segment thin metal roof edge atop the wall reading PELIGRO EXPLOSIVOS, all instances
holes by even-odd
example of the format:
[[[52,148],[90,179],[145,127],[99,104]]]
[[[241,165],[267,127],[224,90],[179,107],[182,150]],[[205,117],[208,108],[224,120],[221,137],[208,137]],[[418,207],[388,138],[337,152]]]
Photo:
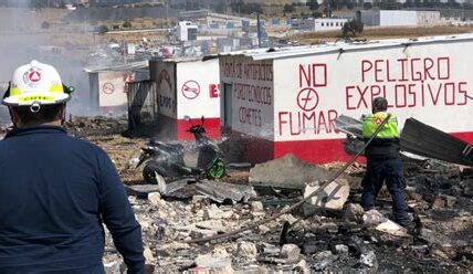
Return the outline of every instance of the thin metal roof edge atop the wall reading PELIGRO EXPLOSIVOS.
[[[324,53],[344,53],[349,51],[383,49],[392,46],[409,46],[416,44],[429,43],[445,43],[445,42],[462,42],[473,40],[473,33],[455,34],[448,36],[430,36],[419,39],[391,39],[368,42],[335,42],[320,45],[306,45],[306,46],[291,46],[291,48],[275,48],[275,49],[256,49],[246,51],[235,51],[229,53],[220,53],[214,56],[246,56],[255,61],[259,60],[277,60],[294,56],[315,55]],[[209,59],[209,57],[207,57]]]

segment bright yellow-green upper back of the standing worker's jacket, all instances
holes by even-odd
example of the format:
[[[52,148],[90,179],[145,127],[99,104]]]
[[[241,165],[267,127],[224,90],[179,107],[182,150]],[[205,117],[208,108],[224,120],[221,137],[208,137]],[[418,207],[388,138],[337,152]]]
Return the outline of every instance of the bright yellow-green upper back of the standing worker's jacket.
[[[362,119],[362,137],[371,137],[387,116],[387,113],[381,112],[365,116]],[[391,118],[385,124],[377,138],[399,138],[398,119],[395,116],[391,115]]]

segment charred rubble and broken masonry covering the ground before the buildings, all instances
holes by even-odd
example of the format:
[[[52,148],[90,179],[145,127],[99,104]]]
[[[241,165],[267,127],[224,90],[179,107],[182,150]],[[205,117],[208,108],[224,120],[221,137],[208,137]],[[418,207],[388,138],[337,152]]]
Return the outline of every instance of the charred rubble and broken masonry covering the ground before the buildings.
[[[124,171],[127,166],[119,161],[126,161],[127,157],[116,156],[117,152],[132,155],[129,150],[136,146],[117,148],[117,140],[120,140],[118,144],[135,141],[114,137],[113,145],[108,141],[98,145],[112,152],[120,173],[136,173],[135,180],[125,183],[143,185],[139,170]],[[284,162],[296,166],[292,167],[296,170],[308,167],[288,156],[264,164],[264,169],[259,166],[251,171],[229,170],[229,177],[223,179],[225,189],[233,189],[232,185],[253,188],[252,194],[242,200],[218,202],[210,192],[198,192],[198,183],[185,183],[176,191],[187,192],[183,197],[160,194],[156,187],[139,186],[148,190],[130,196],[129,200],[143,228],[147,262],[155,267],[155,273],[466,273],[473,267],[473,172],[433,161],[406,164],[408,202],[417,223],[414,231],[389,220],[391,205],[387,190],[381,191],[376,210],[364,212],[359,205],[364,166],[356,165],[335,181],[335,196],[330,194],[332,186],[318,200],[275,221],[221,240],[189,243],[272,217],[302,200],[307,194],[304,190],[311,191],[306,188],[316,188],[339,166],[314,167],[320,171],[309,177],[299,176],[302,181],[309,180],[302,185],[294,181],[296,177],[284,172],[277,173],[274,186],[271,180],[261,179],[264,172],[265,178],[274,177],[274,169],[283,168]],[[292,180],[291,186],[281,185],[286,179]],[[329,202],[337,205],[324,205]],[[311,210],[307,211],[307,207]],[[104,259],[107,273],[119,273],[124,265],[109,239],[107,243]]]

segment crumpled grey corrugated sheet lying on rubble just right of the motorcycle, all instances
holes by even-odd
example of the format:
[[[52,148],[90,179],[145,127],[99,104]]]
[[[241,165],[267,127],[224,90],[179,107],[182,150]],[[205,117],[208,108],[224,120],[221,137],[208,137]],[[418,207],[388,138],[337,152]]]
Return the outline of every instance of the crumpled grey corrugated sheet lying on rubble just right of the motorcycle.
[[[244,185],[203,180],[201,183],[196,183],[196,191],[216,202],[223,203],[231,200],[232,203],[236,203],[248,201],[253,188]]]

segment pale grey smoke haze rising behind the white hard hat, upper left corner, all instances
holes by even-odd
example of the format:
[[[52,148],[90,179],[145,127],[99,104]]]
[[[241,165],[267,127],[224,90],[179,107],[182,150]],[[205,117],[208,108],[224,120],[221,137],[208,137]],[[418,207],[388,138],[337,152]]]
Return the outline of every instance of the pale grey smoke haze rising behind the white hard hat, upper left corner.
[[[44,28],[43,23],[57,22],[59,9],[35,9],[36,0],[8,0],[8,8],[0,7],[0,93],[3,95],[6,84],[11,81],[13,71],[23,64],[38,60],[56,67],[62,81],[76,89],[76,96],[88,98],[88,77],[83,72],[83,64],[74,46],[57,46],[60,36],[69,41],[69,33],[54,33],[54,29]],[[60,22],[61,23],[61,22]],[[57,24],[60,24],[57,23]],[[74,44],[74,41],[70,41]],[[86,110],[76,102],[69,105],[69,112],[84,115]],[[0,107],[0,124],[10,119],[4,106]]]

